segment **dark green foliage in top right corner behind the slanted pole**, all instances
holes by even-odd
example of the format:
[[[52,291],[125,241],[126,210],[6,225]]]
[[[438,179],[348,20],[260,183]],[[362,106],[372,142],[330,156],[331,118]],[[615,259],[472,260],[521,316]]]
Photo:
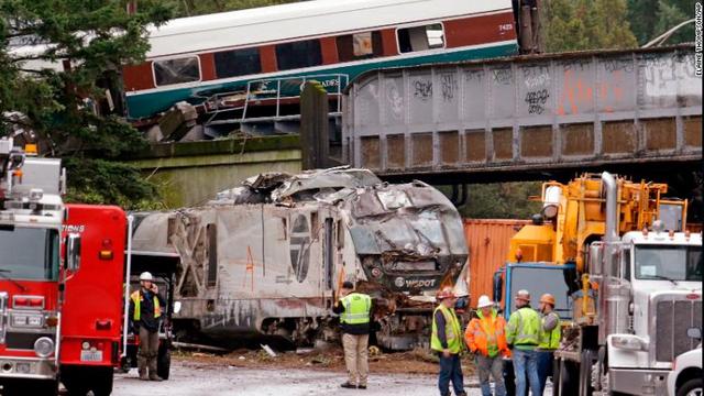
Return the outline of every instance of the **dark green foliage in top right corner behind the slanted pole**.
[[[694,15],[692,0],[628,0],[628,19],[638,43],[644,45]],[[694,25],[680,29],[667,44],[694,41]]]

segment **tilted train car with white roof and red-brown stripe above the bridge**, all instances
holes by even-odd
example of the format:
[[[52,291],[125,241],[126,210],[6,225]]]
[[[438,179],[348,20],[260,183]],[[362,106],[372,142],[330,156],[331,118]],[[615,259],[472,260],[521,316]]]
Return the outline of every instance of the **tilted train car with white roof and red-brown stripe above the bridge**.
[[[123,68],[127,114],[261,105],[248,100],[295,97],[306,79],[334,94],[370,69],[515,55],[516,15],[512,0],[314,0],[176,19]]]

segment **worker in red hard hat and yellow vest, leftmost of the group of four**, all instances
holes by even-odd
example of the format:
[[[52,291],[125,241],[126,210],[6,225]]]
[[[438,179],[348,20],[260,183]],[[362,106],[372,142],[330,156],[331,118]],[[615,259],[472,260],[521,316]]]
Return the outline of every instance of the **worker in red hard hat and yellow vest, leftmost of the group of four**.
[[[450,382],[457,396],[466,396],[460,353],[463,350],[462,327],[454,312],[457,298],[452,287],[444,287],[438,293],[440,304],[432,314],[432,333],[430,348],[440,358],[438,387],[440,396],[450,395]]]

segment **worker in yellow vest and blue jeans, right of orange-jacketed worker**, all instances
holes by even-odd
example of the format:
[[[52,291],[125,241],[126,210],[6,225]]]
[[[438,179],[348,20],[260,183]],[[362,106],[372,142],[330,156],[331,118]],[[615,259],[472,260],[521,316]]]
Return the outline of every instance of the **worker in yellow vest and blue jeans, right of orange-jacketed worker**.
[[[540,343],[540,315],[530,308],[530,293],[521,289],[516,293],[516,310],[506,324],[506,342],[512,348],[512,361],[516,375],[516,395],[527,395],[527,382],[530,392],[540,395],[538,378],[538,352]]]

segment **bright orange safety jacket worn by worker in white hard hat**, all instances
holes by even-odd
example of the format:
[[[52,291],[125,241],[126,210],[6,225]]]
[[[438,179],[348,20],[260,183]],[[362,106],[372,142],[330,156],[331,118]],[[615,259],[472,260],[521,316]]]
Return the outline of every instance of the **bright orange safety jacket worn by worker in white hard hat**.
[[[504,317],[497,315],[496,310],[492,310],[488,318],[484,318],[480,310],[476,314],[479,318],[473,318],[464,332],[464,341],[470,351],[479,351],[482,355],[488,356],[490,345],[494,345],[497,354],[510,355],[504,332],[506,327]]]

